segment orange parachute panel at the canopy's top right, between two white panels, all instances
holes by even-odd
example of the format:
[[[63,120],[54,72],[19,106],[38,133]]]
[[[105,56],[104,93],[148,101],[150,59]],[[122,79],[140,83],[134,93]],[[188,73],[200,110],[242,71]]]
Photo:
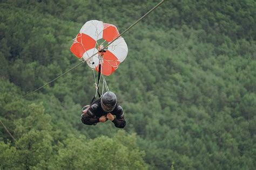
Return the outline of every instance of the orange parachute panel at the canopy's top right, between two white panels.
[[[110,42],[118,36],[119,32],[116,26],[104,23],[103,39],[105,39],[107,42]]]

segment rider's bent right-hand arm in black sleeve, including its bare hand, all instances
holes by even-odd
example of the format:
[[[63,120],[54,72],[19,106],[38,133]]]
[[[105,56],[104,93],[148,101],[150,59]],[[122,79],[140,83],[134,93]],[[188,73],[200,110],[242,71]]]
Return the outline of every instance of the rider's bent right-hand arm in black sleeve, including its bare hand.
[[[116,126],[117,128],[124,128],[124,126],[126,125],[126,121],[124,119],[123,108],[118,106],[117,109],[118,114],[116,115],[116,118],[110,113],[107,114],[107,118],[110,119],[110,121],[112,121],[114,123],[114,126]]]

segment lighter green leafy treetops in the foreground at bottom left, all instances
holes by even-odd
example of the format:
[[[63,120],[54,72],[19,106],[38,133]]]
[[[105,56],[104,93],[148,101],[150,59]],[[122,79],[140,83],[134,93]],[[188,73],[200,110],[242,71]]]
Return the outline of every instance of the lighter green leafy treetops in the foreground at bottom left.
[[[30,104],[28,116],[15,123],[17,142],[0,143],[1,168],[146,169],[135,134],[119,131],[113,138],[86,139],[69,133],[58,141],[42,104]]]

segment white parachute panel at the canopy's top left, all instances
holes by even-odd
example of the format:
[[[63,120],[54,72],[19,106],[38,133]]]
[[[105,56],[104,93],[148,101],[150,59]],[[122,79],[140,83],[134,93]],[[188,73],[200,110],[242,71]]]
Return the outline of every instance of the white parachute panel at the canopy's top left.
[[[87,34],[91,38],[95,39],[96,41],[102,39],[103,37],[103,22],[99,20],[89,20],[86,22],[80,33]]]

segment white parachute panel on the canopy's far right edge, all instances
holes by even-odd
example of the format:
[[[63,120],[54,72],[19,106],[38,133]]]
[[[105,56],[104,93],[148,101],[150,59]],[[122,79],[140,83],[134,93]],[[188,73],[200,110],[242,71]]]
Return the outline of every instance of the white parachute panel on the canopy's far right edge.
[[[109,47],[107,47],[107,50],[113,53],[120,62],[123,62],[128,54],[128,47],[123,38],[118,38]]]

